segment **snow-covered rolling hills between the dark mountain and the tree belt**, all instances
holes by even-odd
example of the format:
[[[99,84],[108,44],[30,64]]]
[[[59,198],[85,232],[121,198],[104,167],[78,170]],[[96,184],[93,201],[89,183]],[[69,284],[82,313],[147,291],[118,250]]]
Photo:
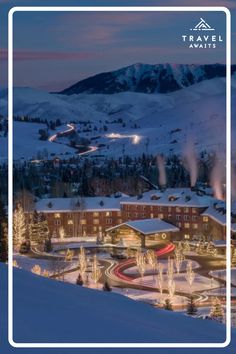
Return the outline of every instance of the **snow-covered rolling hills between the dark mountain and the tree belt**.
[[[181,152],[190,137],[198,150],[222,151],[225,146],[225,79],[203,81],[169,94],[123,92],[113,95],[52,95],[30,88],[14,91],[14,114],[90,121],[91,131],[81,136],[104,144],[92,154],[122,156],[148,153]],[[232,77],[232,105],[236,99],[236,76]],[[0,94],[0,108],[6,114],[7,95]],[[234,108],[234,107],[233,107]],[[236,107],[235,107],[236,108]],[[118,123],[122,120],[122,123]],[[116,123],[114,122],[116,121]],[[106,125],[107,131],[103,127]],[[39,124],[14,122],[15,158],[32,158],[38,151],[75,152],[64,144],[38,140]],[[96,130],[95,130],[96,127]],[[236,132],[233,124],[233,134]],[[1,138],[0,143],[6,143]],[[5,144],[6,145],[6,144]],[[6,146],[0,157],[6,156]]]

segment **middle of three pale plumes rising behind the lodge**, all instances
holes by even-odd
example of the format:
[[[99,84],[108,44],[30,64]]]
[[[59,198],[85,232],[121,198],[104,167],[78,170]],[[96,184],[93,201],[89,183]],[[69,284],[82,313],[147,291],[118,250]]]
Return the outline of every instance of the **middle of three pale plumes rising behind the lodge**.
[[[197,182],[198,162],[192,141],[189,141],[184,148],[183,163],[184,167],[190,174],[191,188],[193,188]]]

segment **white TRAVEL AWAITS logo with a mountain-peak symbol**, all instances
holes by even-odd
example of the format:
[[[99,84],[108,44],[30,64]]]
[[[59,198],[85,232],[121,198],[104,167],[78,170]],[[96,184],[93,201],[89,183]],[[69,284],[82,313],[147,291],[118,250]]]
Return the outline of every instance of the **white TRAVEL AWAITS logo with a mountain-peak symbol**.
[[[215,28],[211,27],[202,17],[200,22],[189,31],[191,32],[181,36],[182,42],[189,49],[215,49],[223,42],[222,35],[208,32],[215,31]]]

